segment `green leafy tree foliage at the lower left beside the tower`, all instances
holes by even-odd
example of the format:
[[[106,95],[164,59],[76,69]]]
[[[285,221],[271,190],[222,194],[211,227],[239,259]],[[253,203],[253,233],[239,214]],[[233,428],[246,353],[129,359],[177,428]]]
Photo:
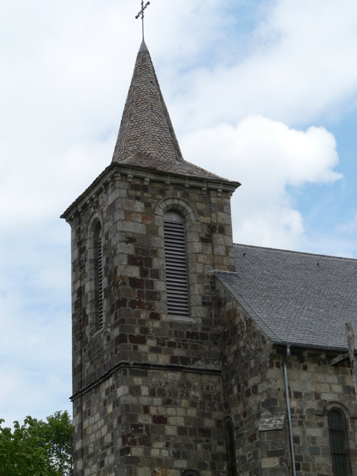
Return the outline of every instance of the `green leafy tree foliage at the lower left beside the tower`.
[[[57,411],[46,422],[26,417],[2,428],[0,419],[1,476],[71,476],[72,421],[67,411]]]

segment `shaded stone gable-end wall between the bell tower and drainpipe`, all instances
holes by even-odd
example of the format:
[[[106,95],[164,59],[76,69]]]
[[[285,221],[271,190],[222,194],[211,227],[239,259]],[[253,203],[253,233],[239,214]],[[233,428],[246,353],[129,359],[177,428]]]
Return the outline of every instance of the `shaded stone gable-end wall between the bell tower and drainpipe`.
[[[286,419],[282,430],[259,431],[262,415],[286,413],[282,370],[279,384],[269,375],[272,343],[220,282],[217,293],[223,405],[234,421],[238,474],[290,475]]]

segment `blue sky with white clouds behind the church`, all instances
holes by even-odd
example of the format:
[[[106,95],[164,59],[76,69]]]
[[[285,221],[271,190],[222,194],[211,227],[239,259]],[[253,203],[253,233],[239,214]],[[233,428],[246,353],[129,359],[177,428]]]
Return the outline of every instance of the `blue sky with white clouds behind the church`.
[[[0,0],[0,418],[71,404],[70,227],[109,165],[139,0]],[[236,243],[357,258],[357,2],[151,0],[186,160],[240,181]]]

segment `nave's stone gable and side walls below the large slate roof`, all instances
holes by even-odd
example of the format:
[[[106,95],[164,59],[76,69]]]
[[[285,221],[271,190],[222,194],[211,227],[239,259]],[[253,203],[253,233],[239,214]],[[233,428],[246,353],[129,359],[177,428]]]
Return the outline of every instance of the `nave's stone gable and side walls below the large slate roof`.
[[[284,347],[276,347],[245,310],[217,284],[223,335],[223,405],[235,422],[240,475],[290,475]],[[287,363],[297,476],[334,475],[328,410],[346,415],[352,474],[357,474],[357,403],[349,360],[331,366],[336,353],[291,349]],[[259,431],[263,420],[284,417],[281,430]]]

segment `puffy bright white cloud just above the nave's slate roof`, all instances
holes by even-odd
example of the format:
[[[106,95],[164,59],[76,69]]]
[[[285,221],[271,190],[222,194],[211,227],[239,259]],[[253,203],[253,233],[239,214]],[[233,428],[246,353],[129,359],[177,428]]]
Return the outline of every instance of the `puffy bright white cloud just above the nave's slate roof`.
[[[294,209],[287,186],[341,177],[334,171],[335,138],[322,127],[304,132],[248,116],[237,127],[223,124],[191,133],[182,147],[188,160],[242,183],[232,197],[238,243],[301,249],[306,245],[303,217]]]

